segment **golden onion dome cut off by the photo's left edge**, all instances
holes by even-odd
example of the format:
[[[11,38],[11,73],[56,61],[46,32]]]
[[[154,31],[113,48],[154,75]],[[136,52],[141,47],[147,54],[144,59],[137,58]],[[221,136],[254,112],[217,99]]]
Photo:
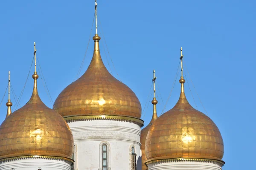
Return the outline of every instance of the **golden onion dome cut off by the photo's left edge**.
[[[73,135],[65,120],[41,101],[38,75],[29,102],[0,126],[0,159],[18,156],[54,156],[71,159]]]

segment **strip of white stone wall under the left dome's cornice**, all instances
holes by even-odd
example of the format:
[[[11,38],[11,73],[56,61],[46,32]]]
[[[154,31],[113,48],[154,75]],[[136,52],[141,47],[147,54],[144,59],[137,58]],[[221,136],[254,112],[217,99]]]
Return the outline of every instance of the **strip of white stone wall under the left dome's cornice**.
[[[71,162],[51,159],[20,159],[0,163],[0,170],[71,170]]]

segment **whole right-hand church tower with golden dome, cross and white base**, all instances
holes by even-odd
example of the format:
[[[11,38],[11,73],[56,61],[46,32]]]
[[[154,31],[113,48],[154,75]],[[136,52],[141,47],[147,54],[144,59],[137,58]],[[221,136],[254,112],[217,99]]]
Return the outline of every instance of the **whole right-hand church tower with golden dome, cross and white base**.
[[[150,127],[145,142],[148,170],[221,170],[224,144],[215,123],[186,99],[181,48],[177,104]]]

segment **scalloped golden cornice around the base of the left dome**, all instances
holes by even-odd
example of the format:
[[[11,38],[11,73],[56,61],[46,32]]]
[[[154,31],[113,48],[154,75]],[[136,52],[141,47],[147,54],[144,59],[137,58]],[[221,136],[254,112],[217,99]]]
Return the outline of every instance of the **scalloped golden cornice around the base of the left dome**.
[[[10,161],[22,160],[22,159],[49,159],[49,160],[56,160],[56,161],[64,161],[70,165],[74,163],[72,159],[64,158],[64,157],[30,155],[30,156],[16,156],[12,158],[0,159],[0,164],[5,162],[10,162]]]

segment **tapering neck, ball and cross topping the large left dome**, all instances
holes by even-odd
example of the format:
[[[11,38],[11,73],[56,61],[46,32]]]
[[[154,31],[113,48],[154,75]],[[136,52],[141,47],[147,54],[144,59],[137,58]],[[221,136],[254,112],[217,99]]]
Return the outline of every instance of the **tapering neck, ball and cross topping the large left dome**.
[[[38,74],[36,72],[36,49],[35,49],[35,42],[34,42],[34,58],[35,58],[35,71],[34,74],[32,75],[32,78],[34,79],[34,88],[33,88],[33,93],[31,98],[29,99],[28,103],[38,103],[41,101],[40,97],[38,96],[38,91],[37,91],[37,79],[38,79]]]

